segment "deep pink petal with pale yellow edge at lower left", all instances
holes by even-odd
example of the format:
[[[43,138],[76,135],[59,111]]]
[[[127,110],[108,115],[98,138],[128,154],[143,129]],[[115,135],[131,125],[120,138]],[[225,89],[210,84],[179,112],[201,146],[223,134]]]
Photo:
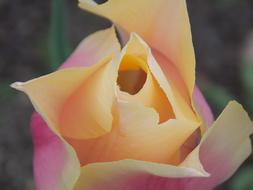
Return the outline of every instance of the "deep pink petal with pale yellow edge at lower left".
[[[80,173],[73,149],[55,135],[39,114],[32,117],[34,178],[37,190],[71,190]]]

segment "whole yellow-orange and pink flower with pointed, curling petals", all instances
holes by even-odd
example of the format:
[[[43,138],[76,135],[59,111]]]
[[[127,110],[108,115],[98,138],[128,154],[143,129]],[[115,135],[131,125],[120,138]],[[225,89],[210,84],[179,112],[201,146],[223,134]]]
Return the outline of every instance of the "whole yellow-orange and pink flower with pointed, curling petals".
[[[235,101],[213,122],[195,86],[185,1],[80,7],[111,19],[126,44],[114,27],[98,31],[60,70],[12,85],[39,113],[37,189],[208,190],[228,179],[251,152],[253,125]]]

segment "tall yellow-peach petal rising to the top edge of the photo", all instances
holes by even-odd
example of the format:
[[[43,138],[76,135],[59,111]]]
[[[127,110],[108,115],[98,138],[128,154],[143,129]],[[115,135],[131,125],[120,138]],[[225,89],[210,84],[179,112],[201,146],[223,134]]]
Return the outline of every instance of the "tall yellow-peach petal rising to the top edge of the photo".
[[[81,8],[140,35],[176,65],[192,94],[195,57],[185,0],[108,0],[100,5],[93,0],[79,2]]]

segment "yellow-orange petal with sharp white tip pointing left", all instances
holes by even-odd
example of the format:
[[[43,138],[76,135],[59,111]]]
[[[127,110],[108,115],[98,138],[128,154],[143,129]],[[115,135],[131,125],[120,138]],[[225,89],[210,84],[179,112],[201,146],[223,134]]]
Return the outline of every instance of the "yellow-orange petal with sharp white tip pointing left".
[[[29,96],[55,133],[94,138],[111,130],[116,75],[105,60],[88,68],[63,69],[12,86]]]

